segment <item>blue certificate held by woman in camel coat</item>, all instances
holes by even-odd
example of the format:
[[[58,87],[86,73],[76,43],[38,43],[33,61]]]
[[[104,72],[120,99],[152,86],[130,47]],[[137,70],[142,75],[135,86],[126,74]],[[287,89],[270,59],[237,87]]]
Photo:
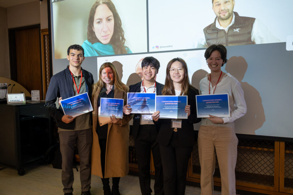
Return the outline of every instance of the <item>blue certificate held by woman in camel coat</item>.
[[[115,115],[116,118],[123,117],[124,99],[101,98],[99,116],[110,117]]]

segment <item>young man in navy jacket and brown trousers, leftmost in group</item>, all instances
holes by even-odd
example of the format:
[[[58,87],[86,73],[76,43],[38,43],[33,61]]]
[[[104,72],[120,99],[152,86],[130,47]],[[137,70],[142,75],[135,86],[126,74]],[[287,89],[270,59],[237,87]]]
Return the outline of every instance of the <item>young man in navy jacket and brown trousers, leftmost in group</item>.
[[[67,99],[78,94],[88,93],[91,97],[93,75],[81,68],[84,61],[84,49],[80,45],[71,45],[67,50],[69,65],[65,70],[52,76],[45,106],[49,114],[56,119],[60,150],[62,154],[62,184],[64,195],[71,195],[74,181],[72,160],[74,145],[76,144],[80,158],[81,194],[91,194],[91,146],[92,146],[92,121],[91,112],[72,117],[64,115],[61,106],[56,108],[57,98]]]

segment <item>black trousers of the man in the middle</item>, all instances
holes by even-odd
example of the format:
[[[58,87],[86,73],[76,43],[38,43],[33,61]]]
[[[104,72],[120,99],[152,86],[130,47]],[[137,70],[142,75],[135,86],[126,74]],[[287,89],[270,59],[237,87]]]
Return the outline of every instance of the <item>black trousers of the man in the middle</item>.
[[[161,155],[159,144],[156,142],[156,137],[157,131],[155,125],[139,125],[134,145],[138,164],[139,184],[142,195],[150,195],[152,192],[150,175],[151,152],[153,154],[155,167],[155,195],[164,194]]]

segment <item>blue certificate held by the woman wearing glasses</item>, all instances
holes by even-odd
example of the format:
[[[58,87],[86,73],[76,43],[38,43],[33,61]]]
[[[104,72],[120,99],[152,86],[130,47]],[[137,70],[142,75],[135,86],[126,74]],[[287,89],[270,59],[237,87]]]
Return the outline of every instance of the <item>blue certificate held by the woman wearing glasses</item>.
[[[160,118],[187,119],[187,96],[156,96],[156,111]]]

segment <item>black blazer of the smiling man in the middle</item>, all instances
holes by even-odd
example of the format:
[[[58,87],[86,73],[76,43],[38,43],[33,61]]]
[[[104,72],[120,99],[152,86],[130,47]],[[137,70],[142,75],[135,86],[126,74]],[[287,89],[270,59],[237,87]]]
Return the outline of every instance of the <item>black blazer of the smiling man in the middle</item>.
[[[136,84],[130,85],[129,86],[129,92],[140,92],[140,86],[142,84],[141,82],[138,82]],[[163,90],[164,85],[161,83],[156,82],[156,95],[161,96],[162,95],[162,90]],[[138,128],[139,128],[139,122],[140,122],[140,114],[134,114],[133,117],[133,124],[132,124],[132,137],[133,139],[136,139],[137,133],[138,133]],[[156,125],[157,126],[157,125]],[[159,131],[159,127],[156,127],[157,132]]]

